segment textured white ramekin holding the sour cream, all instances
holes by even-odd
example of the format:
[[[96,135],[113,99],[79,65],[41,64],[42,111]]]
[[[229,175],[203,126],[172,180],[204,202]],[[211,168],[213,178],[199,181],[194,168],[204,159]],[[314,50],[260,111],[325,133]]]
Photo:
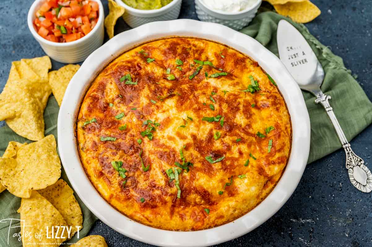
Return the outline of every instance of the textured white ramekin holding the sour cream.
[[[195,9],[199,20],[203,22],[219,23],[231,27],[234,30],[240,30],[251,22],[258,8],[261,6],[261,3],[262,0],[257,0],[257,3],[246,10],[230,13],[212,10],[205,5],[203,0],[195,0]]]

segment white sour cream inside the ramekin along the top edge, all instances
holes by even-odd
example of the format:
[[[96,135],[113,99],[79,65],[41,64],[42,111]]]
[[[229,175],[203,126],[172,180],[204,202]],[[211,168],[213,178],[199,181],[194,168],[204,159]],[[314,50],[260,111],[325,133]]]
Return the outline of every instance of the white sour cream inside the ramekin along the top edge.
[[[239,12],[257,3],[257,0],[201,0],[212,10]]]

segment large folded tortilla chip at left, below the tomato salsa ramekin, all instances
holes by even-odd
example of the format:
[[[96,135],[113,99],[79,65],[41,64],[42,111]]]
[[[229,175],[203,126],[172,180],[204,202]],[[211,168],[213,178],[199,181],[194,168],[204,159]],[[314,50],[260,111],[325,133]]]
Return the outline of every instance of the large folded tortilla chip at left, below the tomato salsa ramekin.
[[[43,112],[52,90],[48,83],[48,56],[12,63],[9,79],[0,94],[0,121],[32,141],[44,138]]]

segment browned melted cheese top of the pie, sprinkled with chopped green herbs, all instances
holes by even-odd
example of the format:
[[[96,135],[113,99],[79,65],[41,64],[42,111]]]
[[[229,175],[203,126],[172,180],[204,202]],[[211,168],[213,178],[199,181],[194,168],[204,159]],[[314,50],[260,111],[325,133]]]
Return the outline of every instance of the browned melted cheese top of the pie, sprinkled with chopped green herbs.
[[[211,77],[222,71],[228,74]],[[128,74],[131,79],[123,78]],[[259,91],[242,91],[250,76]],[[146,129],[151,134],[143,137]],[[291,122],[278,88],[257,62],[207,40],[168,38],[125,52],[97,76],[81,104],[77,142],[92,184],[121,213],[157,228],[201,230],[246,214],[270,193],[290,154]],[[182,148],[185,163],[193,164],[185,164],[189,172],[175,165],[183,164]],[[205,157],[224,158],[211,163]],[[122,162],[121,172],[112,161]],[[180,170],[178,183],[167,174],[171,168]]]

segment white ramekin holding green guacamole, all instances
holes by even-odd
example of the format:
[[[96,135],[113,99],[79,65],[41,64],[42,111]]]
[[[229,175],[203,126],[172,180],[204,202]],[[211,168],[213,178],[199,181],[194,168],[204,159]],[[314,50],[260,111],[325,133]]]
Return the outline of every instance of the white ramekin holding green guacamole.
[[[140,10],[134,9],[122,0],[115,0],[120,6],[125,8],[123,19],[130,27],[138,27],[149,22],[164,20],[175,20],[180,15],[182,0],[173,0],[160,9]]]

